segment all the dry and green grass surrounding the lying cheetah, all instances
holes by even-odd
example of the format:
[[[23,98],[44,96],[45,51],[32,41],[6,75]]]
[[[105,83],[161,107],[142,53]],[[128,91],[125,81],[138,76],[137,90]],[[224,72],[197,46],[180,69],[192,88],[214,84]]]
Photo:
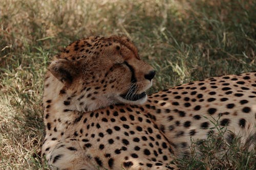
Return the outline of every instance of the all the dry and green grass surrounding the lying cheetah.
[[[152,93],[256,70],[255,9],[252,0],[1,1],[0,169],[47,168],[39,157],[43,77],[61,47],[91,35],[130,37],[157,70]],[[255,169],[255,155],[235,144],[225,157],[231,165],[218,161],[208,154],[215,142],[206,141],[201,158],[177,161],[183,169]]]

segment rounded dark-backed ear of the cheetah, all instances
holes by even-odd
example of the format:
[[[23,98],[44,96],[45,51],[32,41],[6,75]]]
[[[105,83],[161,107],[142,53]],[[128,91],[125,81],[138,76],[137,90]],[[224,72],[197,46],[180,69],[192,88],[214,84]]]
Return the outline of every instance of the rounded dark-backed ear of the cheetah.
[[[64,59],[53,61],[49,66],[49,70],[54,77],[66,85],[70,85],[76,75],[73,62]]]

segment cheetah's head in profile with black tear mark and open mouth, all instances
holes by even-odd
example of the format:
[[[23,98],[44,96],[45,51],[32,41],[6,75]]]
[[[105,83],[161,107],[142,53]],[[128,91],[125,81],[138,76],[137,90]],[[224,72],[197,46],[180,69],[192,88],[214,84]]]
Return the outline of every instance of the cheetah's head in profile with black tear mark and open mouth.
[[[117,103],[142,104],[155,70],[142,61],[126,37],[89,37],[75,41],[49,66],[63,85],[67,104],[89,111]]]

